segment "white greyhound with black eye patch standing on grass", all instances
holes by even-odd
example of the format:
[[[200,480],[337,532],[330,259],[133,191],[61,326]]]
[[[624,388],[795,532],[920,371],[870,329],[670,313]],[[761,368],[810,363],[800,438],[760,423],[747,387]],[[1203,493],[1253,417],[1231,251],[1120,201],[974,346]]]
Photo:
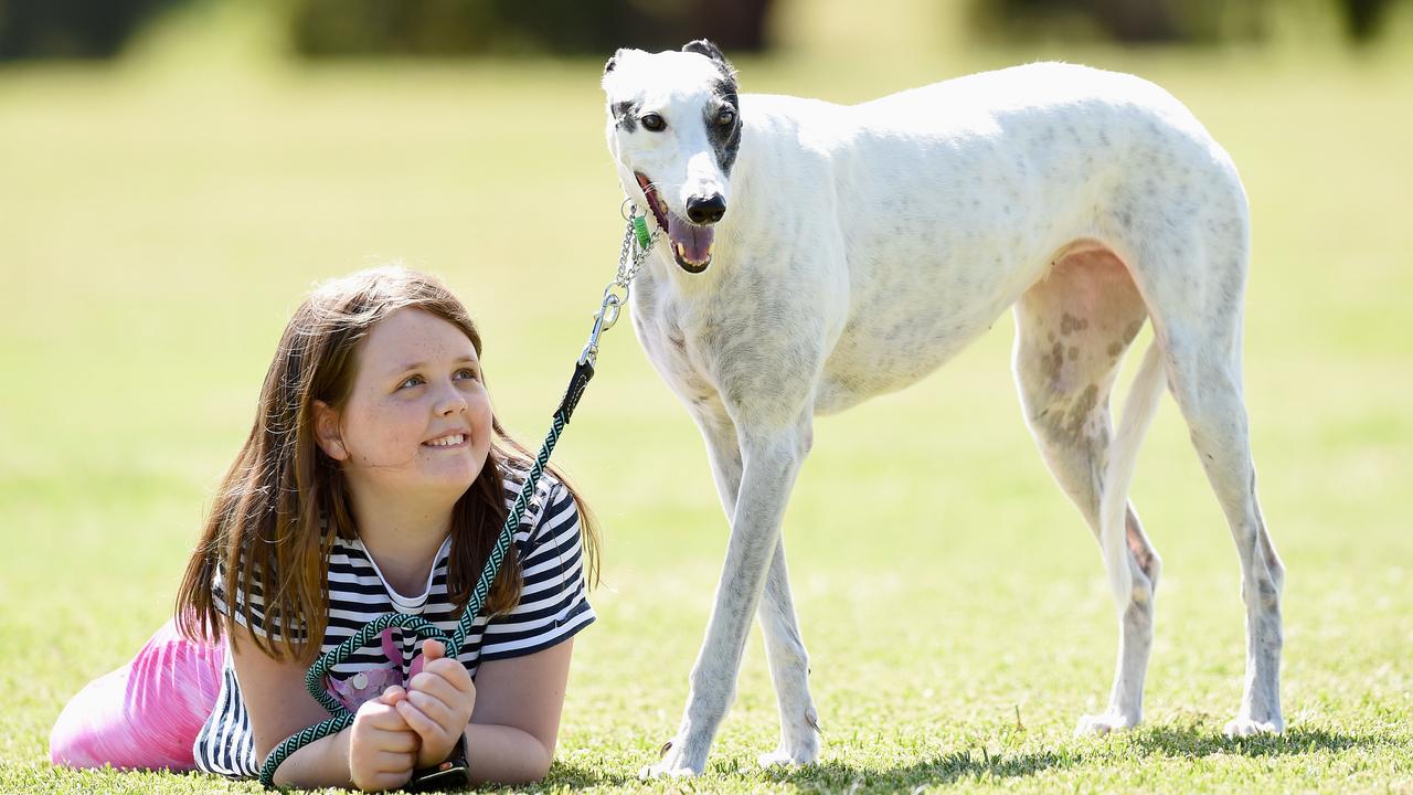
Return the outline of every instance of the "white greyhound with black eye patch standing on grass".
[[[1132,75],[1031,64],[855,106],[742,95],[709,41],[619,50],[608,144],[654,224],[632,291],[649,359],[701,430],[731,539],[677,734],[644,777],[699,775],[760,617],[780,707],[766,765],[820,754],[781,516],[812,417],[907,386],[1015,308],[1013,372],[1118,607],[1108,709],[1143,714],[1160,560],[1128,499],[1164,385],[1228,521],[1246,605],[1229,736],[1279,733],[1284,567],[1256,501],[1242,392],[1246,195],[1180,102]],[[1146,321],[1115,431],[1109,392]]]

